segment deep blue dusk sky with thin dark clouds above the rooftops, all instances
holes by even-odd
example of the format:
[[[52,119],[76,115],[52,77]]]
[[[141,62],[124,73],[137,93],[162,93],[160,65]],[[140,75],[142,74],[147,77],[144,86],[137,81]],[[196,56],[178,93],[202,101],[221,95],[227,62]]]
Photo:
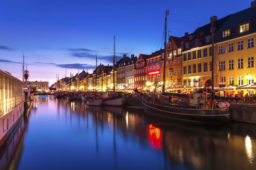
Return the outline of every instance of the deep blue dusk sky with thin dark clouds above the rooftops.
[[[113,35],[116,51],[150,54],[162,47],[165,9],[169,34],[183,36],[209,23],[250,7],[250,2],[226,1],[0,1],[0,68],[21,78],[22,53],[30,80],[62,78],[111,64]],[[185,21],[185,22],[184,22]]]

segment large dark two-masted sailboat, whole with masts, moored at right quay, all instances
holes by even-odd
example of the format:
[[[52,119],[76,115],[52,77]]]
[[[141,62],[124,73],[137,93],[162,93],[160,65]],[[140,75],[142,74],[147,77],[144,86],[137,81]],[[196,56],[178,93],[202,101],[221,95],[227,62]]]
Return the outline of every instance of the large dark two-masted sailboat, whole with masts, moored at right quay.
[[[165,40],[164,40],[164,67],[163,67],[163,87],[161,98],[143,95],[142,103],[146,114],[160,116],[164,118],[182,119],[196,122],[227,122],[229,121],[229,111],[227,105],[217,105],[214,100],[214,93],[192,93],[192,94],[176,94],[165,93],[165,66],[167,54],[167,15],[169,10],[165,12]],[[214,22],[212,23],[214,30]],[[214,31],[212,31],[212,39]],[[212,50],[213,48],[212,40]],[[212,51],[212,63],[213,63]],[[214,72],[214,69],[212,69]],[[212,79],[214,74],[212,73]],[[212,87],[213,80],[212,80]],[[137,90],[135,92],[139,93]],[[171,97],[175,97],[176,101],[172,101]],[[167,99],[168,98],[168,99]],[[217,107],[219,106],[219,107]],[[224,106],[224,107],[223,107]]]

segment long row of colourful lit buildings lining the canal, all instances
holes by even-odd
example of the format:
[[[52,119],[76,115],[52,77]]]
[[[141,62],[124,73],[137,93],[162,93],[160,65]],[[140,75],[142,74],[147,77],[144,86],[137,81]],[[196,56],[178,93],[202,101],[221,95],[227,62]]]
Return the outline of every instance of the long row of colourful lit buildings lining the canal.
[[[212,68],[212,22],[215,26]],[[211,86],[214,70],[214,87],[243,86],[254,82],[256,69],[256,1],[251,7],[224,18],[210,18],[210,23],[198,27],[182,37],[170,36],[167,44],[165,87]],[[111,90],[113,74],[118,89],[147,88],[156,81],[163,81],[164,50],[138,57],[124,55],[112,66],[100,64],[92,74],[82,73],[63,78],[56,87],[59,90]],[[66,81],[65,81],[66,79]],[[66,82],[66,83],[65,83]],[[65,85],[66,84],[66,85]]]

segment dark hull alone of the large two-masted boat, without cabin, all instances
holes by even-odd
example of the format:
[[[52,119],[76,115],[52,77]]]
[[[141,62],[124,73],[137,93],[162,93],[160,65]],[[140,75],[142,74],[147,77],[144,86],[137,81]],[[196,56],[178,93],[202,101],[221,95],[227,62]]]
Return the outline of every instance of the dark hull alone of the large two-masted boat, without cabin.
[[[182,119],[196,122],[228,122],[228,109],[187,109],[177,108],[160,103],[151,103],[143,99],[143,107],[146,114],[164,118]]]

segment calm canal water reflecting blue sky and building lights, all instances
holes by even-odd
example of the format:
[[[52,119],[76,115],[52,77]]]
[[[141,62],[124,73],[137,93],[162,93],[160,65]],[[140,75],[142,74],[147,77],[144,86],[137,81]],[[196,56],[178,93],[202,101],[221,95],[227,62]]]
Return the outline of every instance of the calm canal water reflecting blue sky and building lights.
[[[256,169],[256,125],[201,125],[35,97],[0,169]]]

